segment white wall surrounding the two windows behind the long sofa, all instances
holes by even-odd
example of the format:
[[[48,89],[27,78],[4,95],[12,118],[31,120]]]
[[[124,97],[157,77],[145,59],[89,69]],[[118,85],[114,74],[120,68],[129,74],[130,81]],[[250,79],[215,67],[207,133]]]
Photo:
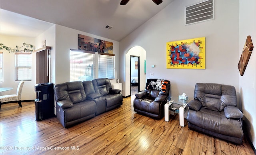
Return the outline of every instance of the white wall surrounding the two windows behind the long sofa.
[[[119,78],[119,42],[56,25],[56,49],[55,49],[55,84],[70,81],[70,49],[78,49],[78,34],[113,42],[113,54],[115,54],[115,79]],[[97,68],[95,68],[97,71]],[[97,77],[96,77],[97,78]]]

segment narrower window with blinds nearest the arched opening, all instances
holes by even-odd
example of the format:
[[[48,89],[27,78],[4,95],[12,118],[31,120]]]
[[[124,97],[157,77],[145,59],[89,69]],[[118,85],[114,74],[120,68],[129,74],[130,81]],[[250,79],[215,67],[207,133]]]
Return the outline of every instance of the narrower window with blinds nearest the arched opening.
[[[115,55],[99,53],[98,56],[98,78],[115,78]]]

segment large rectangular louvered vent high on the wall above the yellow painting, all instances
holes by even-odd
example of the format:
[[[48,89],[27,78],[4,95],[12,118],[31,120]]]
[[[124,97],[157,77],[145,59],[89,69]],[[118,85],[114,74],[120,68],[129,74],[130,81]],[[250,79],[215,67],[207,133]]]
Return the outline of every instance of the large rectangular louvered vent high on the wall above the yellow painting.
[[[188,6],[185,11],[185,25],[214,19],[213,0],[206,0],[198,4]]]

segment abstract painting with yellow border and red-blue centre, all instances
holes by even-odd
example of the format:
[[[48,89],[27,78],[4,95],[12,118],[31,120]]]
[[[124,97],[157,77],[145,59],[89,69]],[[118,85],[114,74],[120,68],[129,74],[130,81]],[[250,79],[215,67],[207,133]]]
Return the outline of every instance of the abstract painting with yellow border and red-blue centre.
[[[205,69],[205,37],[167,42],[166,68]]]

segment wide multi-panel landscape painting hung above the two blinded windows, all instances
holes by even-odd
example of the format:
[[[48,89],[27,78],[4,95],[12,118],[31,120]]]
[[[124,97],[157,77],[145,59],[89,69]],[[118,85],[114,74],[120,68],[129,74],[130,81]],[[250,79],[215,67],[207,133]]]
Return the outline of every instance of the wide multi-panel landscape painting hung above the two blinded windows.
[[[113,54],[113,43],[78,34],[78,49]]]

